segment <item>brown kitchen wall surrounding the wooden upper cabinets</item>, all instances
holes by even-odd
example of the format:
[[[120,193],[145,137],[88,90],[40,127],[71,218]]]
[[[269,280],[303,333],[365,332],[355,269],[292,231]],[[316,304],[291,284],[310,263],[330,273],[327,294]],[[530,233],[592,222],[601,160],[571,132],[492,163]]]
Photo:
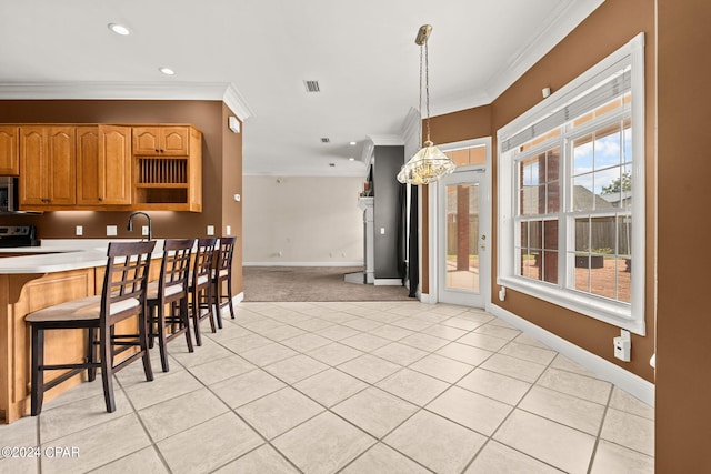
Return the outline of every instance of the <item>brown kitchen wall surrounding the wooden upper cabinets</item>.
[[[241,133],[227,127],[221,101],[131,100],[6,100],[0,101],[0,123],[190,123],[202,132],[202,212],[151,211],[153,235],[164,238],[207,236],[214,225],[217,236],[227,220],[241,234],[241,205],[227,206],[226,194],[241,192]],[[226,162],[229,161],[229,162]],[[233,202],[234,203],[234,202]],[[234,203],[237,204],[237,203]],[[0,216],[0,225],[36,225],[40,239],[74,239],[74,226],[83,225],[84,239],[106,239],[106,226],[117,225],[118,238],[140,236],[126,230],[130,212],[59,211],[42,215]],[[140,229],[141,222],[138,222]],[[137,229],[137,228],[133,228]],[[234,293],[242,291],[242,242],[238,239],[240,278]]]

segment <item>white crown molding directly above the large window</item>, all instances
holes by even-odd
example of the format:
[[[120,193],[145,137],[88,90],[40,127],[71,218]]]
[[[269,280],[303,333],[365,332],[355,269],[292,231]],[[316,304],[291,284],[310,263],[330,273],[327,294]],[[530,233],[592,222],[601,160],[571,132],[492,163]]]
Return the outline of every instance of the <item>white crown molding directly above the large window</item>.
[[[588,18],[604,0],[567,0],[551,13],[544,27],[511,56],[488,81],[484,90],[490,102],[501,95],[525,71]],[[541,88],[545,84],[541,84]]]

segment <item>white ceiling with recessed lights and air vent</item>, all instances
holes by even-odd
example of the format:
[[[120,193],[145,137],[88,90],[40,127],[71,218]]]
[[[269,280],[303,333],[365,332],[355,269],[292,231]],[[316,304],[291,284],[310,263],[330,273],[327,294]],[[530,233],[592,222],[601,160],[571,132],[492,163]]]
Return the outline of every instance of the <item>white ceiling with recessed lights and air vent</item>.
[[[601,2],[0,0],[0,99],[226,99],[246,174],[364,175],[368,138],[418,107],[421,24],[437,115],[490,103]]]

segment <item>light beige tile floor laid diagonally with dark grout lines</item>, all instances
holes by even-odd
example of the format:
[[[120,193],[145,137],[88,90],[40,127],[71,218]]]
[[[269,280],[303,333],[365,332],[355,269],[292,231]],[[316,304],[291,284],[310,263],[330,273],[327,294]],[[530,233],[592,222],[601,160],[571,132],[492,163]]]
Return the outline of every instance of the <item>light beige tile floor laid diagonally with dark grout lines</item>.
[[[0,426],[42,455],[0,473],[654,471],[653,409],[479,310],[242,303],[204,334],[120,372],[114,413],[97,381]]]

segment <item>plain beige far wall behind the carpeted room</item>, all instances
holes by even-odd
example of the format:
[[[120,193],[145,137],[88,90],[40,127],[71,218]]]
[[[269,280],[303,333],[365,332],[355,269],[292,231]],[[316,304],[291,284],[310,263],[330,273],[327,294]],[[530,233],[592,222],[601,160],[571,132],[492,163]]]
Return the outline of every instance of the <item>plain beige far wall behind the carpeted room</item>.
[[[362,186],[362,178],[244,177],[244,262],[361,265]]]

